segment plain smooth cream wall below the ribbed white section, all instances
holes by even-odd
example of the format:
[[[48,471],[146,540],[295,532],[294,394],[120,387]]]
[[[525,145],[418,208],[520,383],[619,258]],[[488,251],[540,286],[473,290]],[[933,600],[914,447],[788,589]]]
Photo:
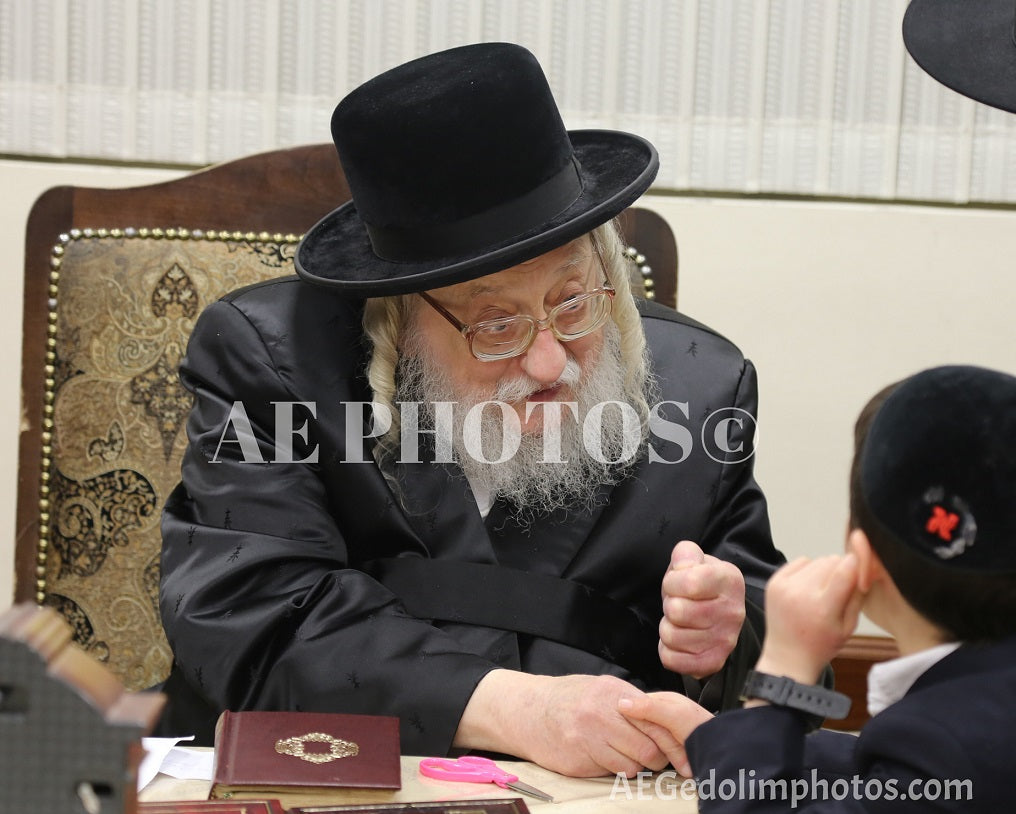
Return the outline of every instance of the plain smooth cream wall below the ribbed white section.
[[[178,174],[0,162],[8,246],[0,338],[10,349],[0,356],[0,563],[14,556],[15,349],[28,208],[58,184],[130,186]],[[668,195],[644,204],[678,236],[681,309],[736,341],[759,369],[758,477],[788,556],[841,545],[852,421],[879,387],[945,362],[1016,373],[1014,209]],[[0,608],[12,593],[5,565]]]

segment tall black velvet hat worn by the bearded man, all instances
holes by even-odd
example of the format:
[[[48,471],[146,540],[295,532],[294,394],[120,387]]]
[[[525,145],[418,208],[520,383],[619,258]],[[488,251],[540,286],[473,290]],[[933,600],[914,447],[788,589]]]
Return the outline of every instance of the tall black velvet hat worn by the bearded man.
[[[652,183],[656,150],[567,131],[535,57],[462,46],[392,68],[331,119],[353,200],[297,249],[305,280],[357,297],[450,286],[563,246]]]

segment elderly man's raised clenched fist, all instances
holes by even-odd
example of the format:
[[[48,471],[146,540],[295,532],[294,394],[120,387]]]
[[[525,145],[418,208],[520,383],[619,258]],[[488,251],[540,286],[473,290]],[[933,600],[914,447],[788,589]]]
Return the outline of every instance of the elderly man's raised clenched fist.
[[[745,621],[745,577],[734,563],[683,540],[663,575],[659,661],[675,673],[704,678],[722,669]]]

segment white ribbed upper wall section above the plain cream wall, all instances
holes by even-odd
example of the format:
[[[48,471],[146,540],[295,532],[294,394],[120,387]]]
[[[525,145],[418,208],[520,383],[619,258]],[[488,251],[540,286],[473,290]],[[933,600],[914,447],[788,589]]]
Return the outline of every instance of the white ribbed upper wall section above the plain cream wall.
[[[322,141],[393,65],[520,43],[657,189],[1016,201],[1016,117],[906,55],[907,0],[0,0],[0,153],[202,165]]]

